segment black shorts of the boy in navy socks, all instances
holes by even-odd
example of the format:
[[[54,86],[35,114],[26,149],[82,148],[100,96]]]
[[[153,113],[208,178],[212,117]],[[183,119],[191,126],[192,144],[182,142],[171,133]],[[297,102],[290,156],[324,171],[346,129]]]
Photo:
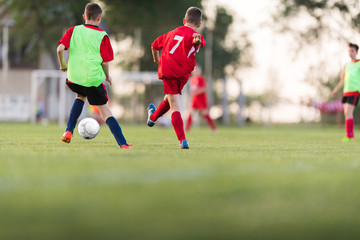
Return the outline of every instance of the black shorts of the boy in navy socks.
[[[102,83],[98,87],[84,87],[66,79],[66,85],[68,85],[71,91],[87,97],[91,105],[104,105],[109,100],[105,85]]]

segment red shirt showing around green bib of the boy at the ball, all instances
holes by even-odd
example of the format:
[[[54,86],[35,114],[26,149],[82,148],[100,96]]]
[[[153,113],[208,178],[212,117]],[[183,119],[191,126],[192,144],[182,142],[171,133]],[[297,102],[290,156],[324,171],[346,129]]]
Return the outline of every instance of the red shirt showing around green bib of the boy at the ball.
[[[97,31],[104,31],[101,28],[93,25],[84,24],[85,27],[91,28]],[[69,28],[64,36],[58,41],[59,44],[63,44],[65,46],[65,49],[69,49],[70,47],[70,39],[72,36],[72,33],[74,31],[74,27]],[[100,45],[100,55],[103,59],[103,62],[110,62],[114,60],[114,52],[110,44],[110,39],[107,35],[104,36],[103,40],[101,41]]]

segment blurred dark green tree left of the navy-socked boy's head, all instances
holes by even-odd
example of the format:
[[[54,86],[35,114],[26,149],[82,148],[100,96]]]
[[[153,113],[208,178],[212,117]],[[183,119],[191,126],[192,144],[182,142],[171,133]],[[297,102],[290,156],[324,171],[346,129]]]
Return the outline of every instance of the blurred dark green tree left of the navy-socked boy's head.
[[[17,54],[36,66],[39,53],[44,51],[57,66],[57,41],[67,27],[83,23],[86,3],[85,0],[0,0],[0,6],[6,9],[0,17],[8,15],[14,20],[10,38]]]

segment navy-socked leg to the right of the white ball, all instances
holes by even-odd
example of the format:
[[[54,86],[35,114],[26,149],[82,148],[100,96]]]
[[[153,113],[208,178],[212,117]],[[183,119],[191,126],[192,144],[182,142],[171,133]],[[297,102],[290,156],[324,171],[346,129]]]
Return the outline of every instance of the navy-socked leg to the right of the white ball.
[[[130,148],[129,144],[127,144],[126,139],[122,133],[119,123],[113,117],[107,104],[98,105],[97,107],[100,111],[100,115],[101,115],[102,119],[109,126],[110,131],[114,135],[115,140],[119,144],[119,146],[121,148]]]

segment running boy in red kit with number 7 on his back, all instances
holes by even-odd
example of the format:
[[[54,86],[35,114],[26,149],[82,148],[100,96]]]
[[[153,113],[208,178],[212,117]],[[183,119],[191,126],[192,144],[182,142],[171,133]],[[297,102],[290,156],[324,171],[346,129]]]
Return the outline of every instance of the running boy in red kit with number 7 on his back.
[[[196,53],[206,44],[204,37],[196,32],[201,25],[201,19],[201,10],[190,7],[185,14],[184,26],[161,35],[151,44],[154,62],[159,64],[158,76],[164,83],[165,97],[158,108],[154,104],[148,106],[147,124],[154,126],[156,120],[171,109],[171,123],[181,149],[188,149],[189,144],[180,114],[179,97],[196,65]]]

